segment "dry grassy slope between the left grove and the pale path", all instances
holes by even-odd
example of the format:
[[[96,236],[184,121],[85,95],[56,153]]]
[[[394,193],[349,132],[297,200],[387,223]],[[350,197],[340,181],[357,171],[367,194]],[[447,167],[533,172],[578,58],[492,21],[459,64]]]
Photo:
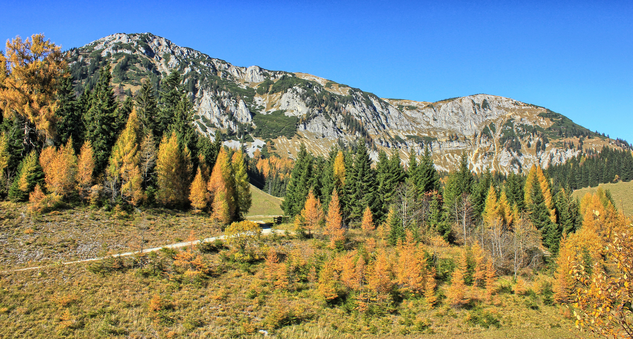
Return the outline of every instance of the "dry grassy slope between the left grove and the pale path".
[[[117,214],[89,207],[31,214],[24,204],[0,202],[0,271],[53,262],[97,257],[108,252],[136,250],[186,240],[193,230],[198,238],[221,234],[206,214],[150,210]],[[132,248],[130,248],[130,246]]]

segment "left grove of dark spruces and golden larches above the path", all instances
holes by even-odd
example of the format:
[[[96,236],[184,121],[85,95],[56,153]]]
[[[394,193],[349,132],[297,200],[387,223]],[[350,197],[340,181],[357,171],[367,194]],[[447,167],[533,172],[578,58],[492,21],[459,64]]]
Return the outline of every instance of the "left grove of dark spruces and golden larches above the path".
[[[39,34],[0,54],[0,196],[41,211],[191,205],[225,223],[248,212],[246,156],[223,147],[220,131],[213,142],[197,133],[178,72],[158,93],[144,80],[118,99],[109,65],[75,93],[66,58]]]

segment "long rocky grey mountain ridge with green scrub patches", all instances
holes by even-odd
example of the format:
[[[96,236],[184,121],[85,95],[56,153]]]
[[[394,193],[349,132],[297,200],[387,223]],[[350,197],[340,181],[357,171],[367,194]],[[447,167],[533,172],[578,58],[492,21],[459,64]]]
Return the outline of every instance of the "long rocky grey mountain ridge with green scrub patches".
[[[325,154],[337,143],[365,138],[374,159],[384,149],[407,161],[411,148],[419,154],[429,146],[439,170],[453,169],[467,151],[476,172],[519,172],[533,163],[565,162],[580,154],[579,147],[629,147],[510,98],[475,94],[435,103],[379,98],[311,74],[237,67],[150,33],[108,35],[70,53],[78,91],[92,87],[97,70],[108,63],[122,96],[139,89],[142,79],[158,88],[161,77],[179,71],[197,129],[213,138],[220,128],[232,139],[225,144],[244,142],[251,155],[266,142],[271,151],[292,157],[300,143]]]

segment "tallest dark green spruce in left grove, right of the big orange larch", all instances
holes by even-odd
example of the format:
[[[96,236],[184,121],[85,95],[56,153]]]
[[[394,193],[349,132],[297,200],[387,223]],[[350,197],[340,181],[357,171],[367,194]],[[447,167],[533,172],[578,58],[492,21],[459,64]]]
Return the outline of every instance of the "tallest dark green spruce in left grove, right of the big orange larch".
[[[116,139],[116,99],[110,86],[111,78],[109,66],[99,70],[99,80],[90,93],[89,108],[83,118],[85,139],[94,148],[97,173],[105,169]]]

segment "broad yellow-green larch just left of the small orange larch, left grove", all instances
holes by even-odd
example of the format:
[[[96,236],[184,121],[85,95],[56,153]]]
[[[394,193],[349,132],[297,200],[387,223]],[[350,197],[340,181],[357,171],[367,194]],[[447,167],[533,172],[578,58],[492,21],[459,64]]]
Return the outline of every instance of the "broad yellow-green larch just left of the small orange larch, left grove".
[[[180,150],[175,132],[169,138],[163,136],[156,160],[157,198],[161,204],[179,206],[186,202],[189,196],[187,188],[191,172],[190,157],[189,150]]]

